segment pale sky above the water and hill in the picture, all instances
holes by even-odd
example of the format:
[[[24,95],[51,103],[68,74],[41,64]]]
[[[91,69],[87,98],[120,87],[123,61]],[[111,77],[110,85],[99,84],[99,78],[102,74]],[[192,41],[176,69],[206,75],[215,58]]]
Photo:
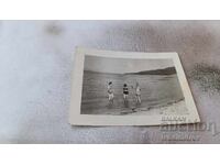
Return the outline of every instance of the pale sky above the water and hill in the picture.
[[[174,66],[172,59],[130,59],[85,56],[85,70],[98,73],[138,73]]]

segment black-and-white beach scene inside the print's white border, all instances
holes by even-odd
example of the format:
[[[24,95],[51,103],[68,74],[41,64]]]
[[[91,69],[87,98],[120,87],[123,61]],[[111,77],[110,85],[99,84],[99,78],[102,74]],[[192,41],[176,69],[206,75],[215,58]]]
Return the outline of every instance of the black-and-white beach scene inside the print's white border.
[[[187,113],[172,59],[85,56],[81,114]]]

